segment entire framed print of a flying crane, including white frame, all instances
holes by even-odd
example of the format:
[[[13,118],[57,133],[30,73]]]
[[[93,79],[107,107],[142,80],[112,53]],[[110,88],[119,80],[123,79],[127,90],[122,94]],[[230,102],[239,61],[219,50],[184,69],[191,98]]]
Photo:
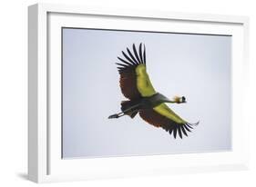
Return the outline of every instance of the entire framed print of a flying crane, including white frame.
[[[31,181],[248,168],[247,17],[28,13]]]

